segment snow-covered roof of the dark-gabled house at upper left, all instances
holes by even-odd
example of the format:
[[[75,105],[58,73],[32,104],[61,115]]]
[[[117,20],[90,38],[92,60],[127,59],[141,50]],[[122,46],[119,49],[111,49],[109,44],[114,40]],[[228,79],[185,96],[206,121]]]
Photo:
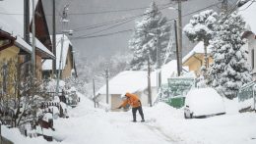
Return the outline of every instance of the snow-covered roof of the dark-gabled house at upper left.
[[[35,4],[37,0],[35,0]],[[32,0],[30,0],[32,6]],[[30,13],[32,14],[32,7],[30,7]],[[32,15],[30,17],[32,21]],[[0,28],[11,33],[13,36],[18,36],[16,41],[18,45],[22,47],[28,46],[21,38],[24,37],[24,0],[5,0],[0,2]],[[32,34],[31,34],[32,39]],[[46,53],[50,57],[54,58],[54,55],[37,39],[35,38],[35,46],[40,51]],[[32,49],[28,46],[25,50]]]

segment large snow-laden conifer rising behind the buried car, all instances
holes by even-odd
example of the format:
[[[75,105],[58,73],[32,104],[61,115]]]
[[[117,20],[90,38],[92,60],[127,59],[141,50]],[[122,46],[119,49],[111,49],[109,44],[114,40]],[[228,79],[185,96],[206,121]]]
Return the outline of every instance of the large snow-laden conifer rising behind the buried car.
[[[244,83],[252,77],[246,61],[245,50],[241,39],[245,22],[236,13],[220,20],[217,26],[217,35],[210,42],[214,63],[211,65],[209,75],[211,85],[226,98],[232,99]]]

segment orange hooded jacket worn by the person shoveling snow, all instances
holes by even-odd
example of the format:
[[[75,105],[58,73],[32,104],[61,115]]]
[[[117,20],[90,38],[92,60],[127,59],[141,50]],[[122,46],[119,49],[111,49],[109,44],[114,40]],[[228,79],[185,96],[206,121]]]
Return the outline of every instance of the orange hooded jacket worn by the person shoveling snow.
[[[123,101],[120,107],[125,107],[127,104],[132,106],[132,108],[137,108],[141,106],[141,101],[137,95],[127,92],[125,96],[127,97],[127,99]]]

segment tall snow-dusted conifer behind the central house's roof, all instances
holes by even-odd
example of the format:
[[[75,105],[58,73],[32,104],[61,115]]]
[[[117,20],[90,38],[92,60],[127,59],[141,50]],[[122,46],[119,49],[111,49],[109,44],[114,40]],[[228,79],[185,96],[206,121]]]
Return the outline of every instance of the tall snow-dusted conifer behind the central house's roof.
[[[137,22],[132,39],[129,41],[129,48],[133,52],[131,70],[146,70],[148,57],[152,65],[157,67],[157,47],[159,58],[162,60],[168,44],[169,30],[166,18],[162,18],[156,3],[152,2],[144,13],[142,21]]]

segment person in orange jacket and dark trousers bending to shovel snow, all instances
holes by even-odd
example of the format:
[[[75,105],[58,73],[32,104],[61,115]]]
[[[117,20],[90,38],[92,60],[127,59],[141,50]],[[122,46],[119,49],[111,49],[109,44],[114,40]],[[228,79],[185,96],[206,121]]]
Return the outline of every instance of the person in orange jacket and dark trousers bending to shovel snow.
[[[141,121],[144,122],[145,120],[144,120],[144,114],[142,110],[142,103],[139,97],[135,94],[131,94],[127,92],[124,96],[122,96],[122,99],[124,99],[123,103],[117,109],[124,108],[128,104],[132,107],[133,121],[136,122],[136,113],[137,113],[137,110],[139,110],[139,113],[142,118]]]

